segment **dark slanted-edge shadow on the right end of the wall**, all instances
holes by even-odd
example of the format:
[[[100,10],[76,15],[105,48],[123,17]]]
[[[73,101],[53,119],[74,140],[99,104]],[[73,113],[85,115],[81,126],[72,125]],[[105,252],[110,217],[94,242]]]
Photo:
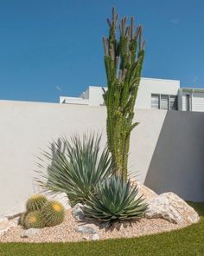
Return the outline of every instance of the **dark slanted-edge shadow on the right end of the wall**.
[[[167,112],[144,184],[204,201],[204,113]]]

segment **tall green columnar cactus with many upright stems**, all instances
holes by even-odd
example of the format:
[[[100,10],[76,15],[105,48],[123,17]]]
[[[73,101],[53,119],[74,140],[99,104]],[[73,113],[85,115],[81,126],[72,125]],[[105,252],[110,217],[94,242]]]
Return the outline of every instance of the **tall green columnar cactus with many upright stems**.
[[[140,83],[144,58],[142,26],[134,30],[134,18],[126,25],[126,17],[118,26],[118,14],[112,9],[112,20],[107,19],[109,36],[103,38],[107,91],[104,101],[107,108],[106,131],[108,147],[112,153],[116,174],[127,179],[128,154],[133,123],[134,106]],[[120,36],[117,38],[119,28]]]

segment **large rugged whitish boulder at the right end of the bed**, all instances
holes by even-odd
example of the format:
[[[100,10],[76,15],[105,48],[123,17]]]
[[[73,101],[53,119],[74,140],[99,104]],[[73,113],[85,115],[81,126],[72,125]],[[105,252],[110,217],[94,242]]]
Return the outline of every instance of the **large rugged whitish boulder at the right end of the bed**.
[[[163,193],[147,200],[145,218],[163,218],[176,224],[192,224],[200,220],[198,213],[174,193]]]

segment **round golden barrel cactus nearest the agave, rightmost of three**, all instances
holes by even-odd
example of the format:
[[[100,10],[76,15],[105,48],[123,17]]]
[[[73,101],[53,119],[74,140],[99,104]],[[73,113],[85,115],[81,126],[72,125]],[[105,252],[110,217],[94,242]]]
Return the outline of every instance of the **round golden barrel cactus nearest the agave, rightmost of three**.
[[[65,218],[65,209],[60,202],[48,201],[42,208],[41,213],[46,226],[56,226],[61,224]]]

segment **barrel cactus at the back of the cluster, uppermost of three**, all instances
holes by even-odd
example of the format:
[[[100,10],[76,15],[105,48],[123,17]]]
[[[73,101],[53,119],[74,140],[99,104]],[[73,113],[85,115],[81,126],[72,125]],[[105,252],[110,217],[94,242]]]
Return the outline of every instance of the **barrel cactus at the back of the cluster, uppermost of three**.
[[[47,198],[42,194],[32,195],[26,203],[27,212],[41,210],[41,207],[47,202]]]

